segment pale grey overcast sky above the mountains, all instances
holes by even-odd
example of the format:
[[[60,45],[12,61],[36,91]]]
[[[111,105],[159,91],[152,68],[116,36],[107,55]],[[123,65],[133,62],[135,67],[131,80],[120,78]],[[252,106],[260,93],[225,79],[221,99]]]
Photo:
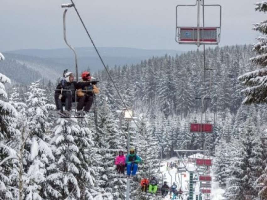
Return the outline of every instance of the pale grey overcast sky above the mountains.
[[[194,0],[74,0],[98,47],[143,49],[196,49],[175,42],[175,9]],[[222,6],[220,46],[255,42],[259,33],[252,24],[266,19],[255,12],[255,0],[205,0]],[[0,6],[0,51],[66,47],[63,41],[63,8],[66,0],[10,0]],[[219,24],[219,10],[205,11],[205,24]],[[196,9],[181,8],[181,25],[196,26]],[[91,47],[74,11],[67,13],[67,37],[75,47]]]

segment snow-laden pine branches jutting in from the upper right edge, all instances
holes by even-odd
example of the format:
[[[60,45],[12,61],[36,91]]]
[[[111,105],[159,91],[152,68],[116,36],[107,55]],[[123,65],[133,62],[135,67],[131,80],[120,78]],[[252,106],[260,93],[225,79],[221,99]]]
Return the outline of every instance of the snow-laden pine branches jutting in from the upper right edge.
[[[266,3],[267,1],[255,3],[255,10],[265,13],[267,11]],[[267,87],[264,84],[267,80],[267,21],[264,20],[254,24],[253,29],[264,35],[264,37],[259,36],[258,43],[253,45],[253,51],[257,53],[257,56],[250,58],[261,69],[256,69],[238,77],[239,81],[242,81],[242,84],[247,86],[246,89],[242,90],[242,94],[246,96],[243,100],[244,104],[267,102]]]

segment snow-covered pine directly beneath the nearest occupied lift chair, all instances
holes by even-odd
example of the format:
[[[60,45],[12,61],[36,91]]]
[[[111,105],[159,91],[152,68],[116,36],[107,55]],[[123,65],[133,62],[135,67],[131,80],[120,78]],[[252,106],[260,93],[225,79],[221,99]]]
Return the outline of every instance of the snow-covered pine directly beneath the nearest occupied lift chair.
[[[51,144],[56,162],[48,169],[47,189],[51,199],[93,199],[94,170],[91,167],[91,131],[81,127],[77,119],[58,119]]]

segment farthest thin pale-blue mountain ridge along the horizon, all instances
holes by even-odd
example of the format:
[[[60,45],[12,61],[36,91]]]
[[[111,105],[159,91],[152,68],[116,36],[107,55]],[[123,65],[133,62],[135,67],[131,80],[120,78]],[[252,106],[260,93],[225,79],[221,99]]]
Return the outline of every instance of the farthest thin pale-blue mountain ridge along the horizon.
[[[93,47],[77,47],[75,50],[78,57],[97,57],[97,53]],[[183,53],[183,51],[177,50],[150,50],[128,47],[98,47],[98,51],[103,57],[152,57],[162,56],[165,54],[174,56],[175,54]],[[20,54],[39,58],[67,58],[74,56],[73,52],[69,48],[19,49],[3,53]]]

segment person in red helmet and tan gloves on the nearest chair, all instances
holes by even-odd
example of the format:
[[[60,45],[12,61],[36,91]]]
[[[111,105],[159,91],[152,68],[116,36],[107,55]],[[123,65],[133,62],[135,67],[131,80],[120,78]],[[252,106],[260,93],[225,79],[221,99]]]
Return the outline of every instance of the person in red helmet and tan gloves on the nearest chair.
[[[79,98],[79,102],[77,105],[77,110],[81,111],[84,108],[85,112],[89,112],[94,100],[94,94],[99,93],[98,88],[95,86],[97,81],[95,78],[91,77],[89,71],[84,71],[81,74],[81,77],[81,82],[90,82],[90,85],[78,89],[77,96]]]

